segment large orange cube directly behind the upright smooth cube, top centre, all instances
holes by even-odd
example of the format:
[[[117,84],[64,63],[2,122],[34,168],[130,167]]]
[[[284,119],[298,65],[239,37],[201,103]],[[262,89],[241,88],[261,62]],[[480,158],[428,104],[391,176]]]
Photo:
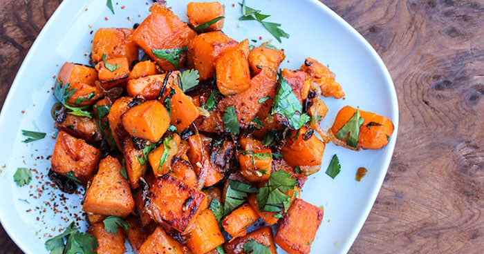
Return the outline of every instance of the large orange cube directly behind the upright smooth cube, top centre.
[[[198,70],[201,80],[208,79],[214,76],[216,59],[237,46],[239,43],[223,32],[205,32],[188,43],[188,61]]]

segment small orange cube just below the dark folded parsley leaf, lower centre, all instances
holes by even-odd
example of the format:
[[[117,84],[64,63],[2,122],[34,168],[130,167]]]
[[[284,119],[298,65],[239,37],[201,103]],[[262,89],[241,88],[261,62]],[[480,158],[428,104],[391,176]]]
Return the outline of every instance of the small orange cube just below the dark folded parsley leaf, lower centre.
[[[243,204],[223,219],[222,226],[232,238],[235,238],[244,236],[247,233],[245,229],[257,219],[259,219],[257,212],[248,204]]]

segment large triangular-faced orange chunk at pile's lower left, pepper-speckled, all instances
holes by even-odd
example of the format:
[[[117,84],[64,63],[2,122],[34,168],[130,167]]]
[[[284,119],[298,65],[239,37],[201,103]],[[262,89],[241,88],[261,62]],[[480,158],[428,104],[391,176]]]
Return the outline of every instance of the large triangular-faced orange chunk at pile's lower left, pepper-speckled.
[[[98,215],[126,217],[133,211],[134,200],[127,179],[122,177],[118,159],[108,156],[99,164],[91,186],[86,191],[82,209]]]

